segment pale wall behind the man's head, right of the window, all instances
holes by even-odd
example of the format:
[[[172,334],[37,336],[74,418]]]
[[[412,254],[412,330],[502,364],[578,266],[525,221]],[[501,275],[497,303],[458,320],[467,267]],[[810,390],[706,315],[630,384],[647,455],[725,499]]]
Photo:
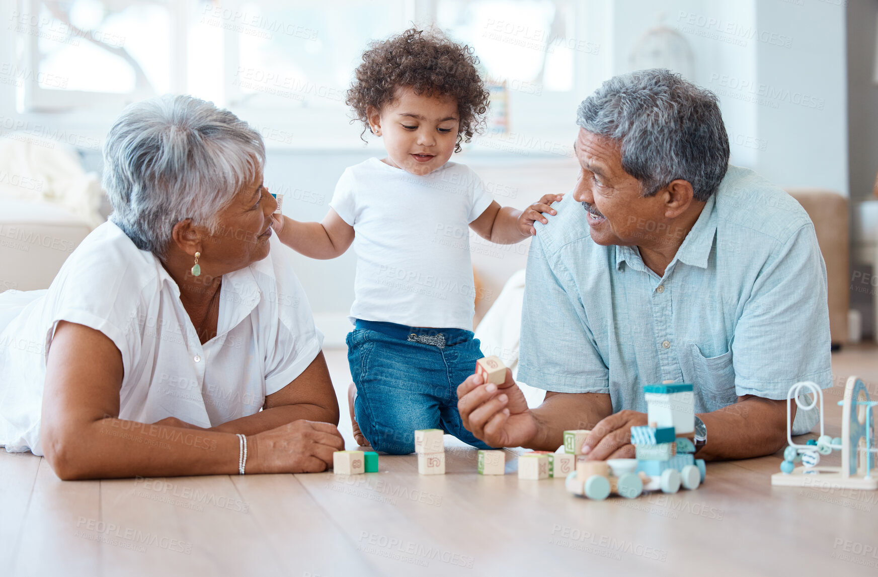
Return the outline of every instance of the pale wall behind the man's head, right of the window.
[[[694,50],[694,77],[720,97],[732,162],[781,186],[847,195],[845,9],[818,0],[617,0],[614,74],[656,25]]]

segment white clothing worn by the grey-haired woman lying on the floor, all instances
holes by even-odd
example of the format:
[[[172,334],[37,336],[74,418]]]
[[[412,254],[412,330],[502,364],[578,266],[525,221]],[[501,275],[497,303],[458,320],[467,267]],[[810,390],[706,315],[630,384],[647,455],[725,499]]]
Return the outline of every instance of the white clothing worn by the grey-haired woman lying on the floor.
[[[0,445],[42,454],[46,356],[58,321],[99,330],[119,349],[121,419],[213,427],[257,413],[323,343],[291,251],[270,242],[269,256],[223,276],[218,333],[204,345],[168,271],[112,222],[85,238],[47,291],[0,294],[0,318],[30,300],[0,327]]]

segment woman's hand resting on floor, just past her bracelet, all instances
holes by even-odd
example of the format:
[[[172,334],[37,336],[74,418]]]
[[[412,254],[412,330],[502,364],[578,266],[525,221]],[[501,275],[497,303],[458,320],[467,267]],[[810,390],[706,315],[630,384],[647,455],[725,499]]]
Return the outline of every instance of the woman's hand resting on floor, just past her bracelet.
[[[248,436],[247,449],[245,472],[321,472],[344,439],[333,424],[301,419]]]

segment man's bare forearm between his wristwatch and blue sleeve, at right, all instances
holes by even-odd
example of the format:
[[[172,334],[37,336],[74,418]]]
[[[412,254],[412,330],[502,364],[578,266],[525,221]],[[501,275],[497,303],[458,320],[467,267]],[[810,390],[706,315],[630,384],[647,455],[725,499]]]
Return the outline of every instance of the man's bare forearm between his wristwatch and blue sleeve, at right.
[[[771,455],[787,444],[787,401],[747,395],[734,405],[698,415],[708,442],[697,457],[706,460]],[[795,403],[790,415],[795,418]]]

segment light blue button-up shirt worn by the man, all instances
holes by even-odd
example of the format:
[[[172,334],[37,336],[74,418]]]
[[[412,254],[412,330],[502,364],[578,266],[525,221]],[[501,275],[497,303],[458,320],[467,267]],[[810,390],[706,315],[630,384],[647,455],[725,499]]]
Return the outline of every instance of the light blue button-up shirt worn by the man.
[[[786,399],[801,380],[832,385],[814,225],[752,170],[729,167],[663,277],[637,247],[595,244],[572,194],[555,207],[530,245],[522,382],[608,393],[614,412],[645,412],[644,385],[692,383],[696,413],[738,395]],[[815,422],[817,411],[797,415],[795,429]]]

